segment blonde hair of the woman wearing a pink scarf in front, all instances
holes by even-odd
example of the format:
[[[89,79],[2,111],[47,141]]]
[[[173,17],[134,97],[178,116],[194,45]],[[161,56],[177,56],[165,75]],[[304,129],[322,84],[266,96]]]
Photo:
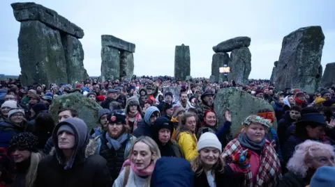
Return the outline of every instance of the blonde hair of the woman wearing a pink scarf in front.
[[[130,152],[128,154],[128,158],[131,158],[131,155],[133,153],[133,149],[136,143],[145,143],[149,146],[151,154],[154,154],[154,163],[158,160],[158,158],[161,158],[161,152],[159,151],[157,143],[151,139],[149,136],[140,136],[140,138],[137,138],[133,140],[133,143],[131,144],[131,148],[129,149]],[[131,179],[131,177],[128,178],[128,180]],[[149,187],[151,181],[151,175],[145,179],[145,182],[142,187]]]

